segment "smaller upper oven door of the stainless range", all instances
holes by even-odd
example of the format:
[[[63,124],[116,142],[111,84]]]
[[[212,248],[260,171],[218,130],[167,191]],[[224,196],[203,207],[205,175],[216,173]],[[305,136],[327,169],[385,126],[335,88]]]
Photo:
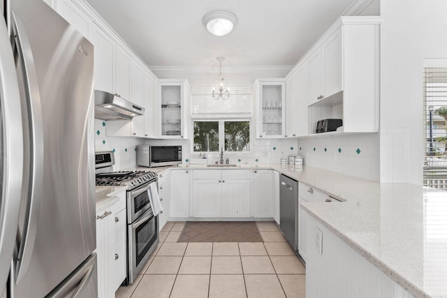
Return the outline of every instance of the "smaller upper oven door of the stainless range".
[[[140,186],[127,195],[127,223],[133,223],[151,207],[149,184]]]

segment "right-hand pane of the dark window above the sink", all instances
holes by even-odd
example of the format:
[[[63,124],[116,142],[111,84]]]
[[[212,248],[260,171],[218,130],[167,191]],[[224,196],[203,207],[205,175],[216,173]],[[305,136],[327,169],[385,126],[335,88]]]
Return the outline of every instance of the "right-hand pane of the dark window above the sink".
[[[225,122],[225,151],[250,151],[250,122]]]

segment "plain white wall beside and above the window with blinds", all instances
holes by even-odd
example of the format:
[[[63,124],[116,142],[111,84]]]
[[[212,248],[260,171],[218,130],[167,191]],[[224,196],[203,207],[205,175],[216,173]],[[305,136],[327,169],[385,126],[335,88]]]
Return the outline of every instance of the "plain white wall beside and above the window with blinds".
[[[381,182],[422,184],[423,60],[447,58],[447,1],[381,0]]]

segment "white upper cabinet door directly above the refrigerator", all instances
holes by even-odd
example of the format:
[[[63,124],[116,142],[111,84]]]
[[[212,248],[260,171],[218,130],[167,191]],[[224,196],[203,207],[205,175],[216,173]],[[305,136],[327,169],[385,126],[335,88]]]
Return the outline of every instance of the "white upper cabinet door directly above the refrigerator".
[[[80,31],[83,36],[86,38],[89,37],[90,19],[87,13],[82,11],[71,0],[56,0],[54,1],[54,6],[55,10],[59,13],[59,15],[61,15],[61,17],[64,17],[64,19],[75,27],[76,30]]]

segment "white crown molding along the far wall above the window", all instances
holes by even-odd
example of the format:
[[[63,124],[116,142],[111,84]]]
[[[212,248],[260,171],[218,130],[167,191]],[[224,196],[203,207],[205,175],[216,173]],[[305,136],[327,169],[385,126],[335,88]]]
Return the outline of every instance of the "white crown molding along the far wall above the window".
[[[292,66],[226,66],[222,73],[288,73]],[[149,66],[154,73],[219,73],[219,67],[207,66]]]

